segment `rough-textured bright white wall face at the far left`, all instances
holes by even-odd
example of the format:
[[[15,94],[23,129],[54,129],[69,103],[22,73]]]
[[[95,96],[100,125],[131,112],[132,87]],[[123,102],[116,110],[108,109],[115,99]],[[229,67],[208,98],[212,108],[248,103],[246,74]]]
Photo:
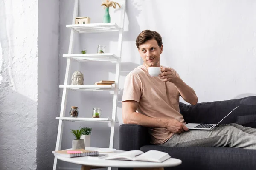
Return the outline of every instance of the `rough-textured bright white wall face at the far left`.
[[[0,169],[36,169],[38,1],[0,1]]]

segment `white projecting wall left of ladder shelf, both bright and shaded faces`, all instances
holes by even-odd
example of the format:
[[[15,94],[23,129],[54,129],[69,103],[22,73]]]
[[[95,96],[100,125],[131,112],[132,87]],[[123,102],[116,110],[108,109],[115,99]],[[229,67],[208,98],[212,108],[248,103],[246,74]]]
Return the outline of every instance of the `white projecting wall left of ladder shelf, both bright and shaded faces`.
[[[52,169],[58,1],[0,1],[0,169]]]

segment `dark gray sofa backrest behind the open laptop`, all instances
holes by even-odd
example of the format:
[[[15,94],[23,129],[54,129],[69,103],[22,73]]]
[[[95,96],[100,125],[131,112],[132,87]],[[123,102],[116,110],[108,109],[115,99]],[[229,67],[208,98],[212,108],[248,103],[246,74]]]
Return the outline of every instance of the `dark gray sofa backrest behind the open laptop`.
[[[230,113],[236,106],[235,111]],[[256,96],[225,101],[204,102],[197,105],[180,103],[180,113],[186,123],[237,123],[239,125],[256,122]]]

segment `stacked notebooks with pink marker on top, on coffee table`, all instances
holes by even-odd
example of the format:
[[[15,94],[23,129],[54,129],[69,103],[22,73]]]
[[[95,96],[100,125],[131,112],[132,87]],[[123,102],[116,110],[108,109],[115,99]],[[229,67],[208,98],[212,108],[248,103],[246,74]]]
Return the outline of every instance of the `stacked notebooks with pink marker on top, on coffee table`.
[[[68,153],[68,151],[78,151],[81,153]],[[98,151],[90,151],[90,150],[85,150],[85,149],[58,150],[58,151],[52,151],[52,153],[54,154],[54,156],[63,156],[63,157],[67,157],[67,158],[99,155]]]

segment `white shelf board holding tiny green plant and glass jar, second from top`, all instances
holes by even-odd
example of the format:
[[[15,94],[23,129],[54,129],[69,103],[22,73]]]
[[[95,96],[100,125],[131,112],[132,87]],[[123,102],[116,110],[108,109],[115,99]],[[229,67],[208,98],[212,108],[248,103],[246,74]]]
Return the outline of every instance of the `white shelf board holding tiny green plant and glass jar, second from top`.
[[[113,53],[96,54],[63,54],[63,57],[73,59],[79,62],[83,61],[117,61],[120,58]]]

